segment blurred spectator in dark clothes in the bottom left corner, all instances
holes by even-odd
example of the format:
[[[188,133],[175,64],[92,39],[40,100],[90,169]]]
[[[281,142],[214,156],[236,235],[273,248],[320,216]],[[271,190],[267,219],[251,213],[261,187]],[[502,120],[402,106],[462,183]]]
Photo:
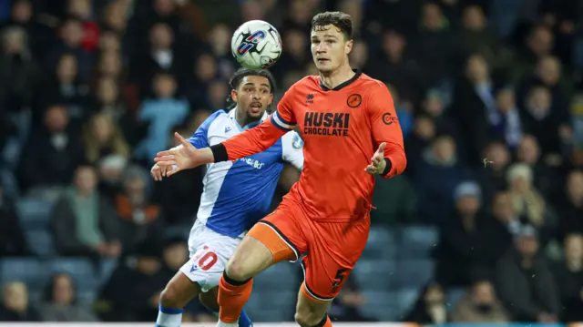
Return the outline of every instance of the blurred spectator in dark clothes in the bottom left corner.
[[[21,281],[13,281],[2,289],[0,322],[40,322],[41,317],[28,301],[28,289]]]

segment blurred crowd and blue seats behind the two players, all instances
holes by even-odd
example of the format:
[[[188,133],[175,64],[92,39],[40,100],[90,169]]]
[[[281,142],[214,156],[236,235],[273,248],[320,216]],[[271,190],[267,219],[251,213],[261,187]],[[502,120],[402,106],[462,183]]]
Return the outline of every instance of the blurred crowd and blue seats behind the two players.
[[[153,323],[204,169],[153,183],[151,158],[225,107],[240,23],[281,32],[281,97],[315,73],[322,10],[353,16],[352,64],[392,90],[409,161],[377,184],[332,318],[583,321],[577,0],[0,0],[0,321]],[[251,317],[292,321],[301,280],[262,273]]]

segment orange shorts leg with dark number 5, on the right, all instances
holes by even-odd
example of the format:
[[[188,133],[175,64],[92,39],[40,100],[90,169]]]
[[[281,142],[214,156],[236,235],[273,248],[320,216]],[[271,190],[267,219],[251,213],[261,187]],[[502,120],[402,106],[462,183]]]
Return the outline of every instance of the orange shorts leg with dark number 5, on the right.
[[[312,222],[310,251],[302,258],[306,297],[332,301],[338,295],[366,246],[369,222]]]

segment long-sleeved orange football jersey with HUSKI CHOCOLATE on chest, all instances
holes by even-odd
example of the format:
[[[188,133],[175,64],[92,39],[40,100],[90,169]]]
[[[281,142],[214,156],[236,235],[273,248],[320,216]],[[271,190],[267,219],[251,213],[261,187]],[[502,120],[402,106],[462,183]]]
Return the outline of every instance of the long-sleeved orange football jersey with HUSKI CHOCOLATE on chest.
[[[270,119],[222,144],[230,160],[244,158],[271,147],[296,126],[304,142],[304,165],[288,196],[301,199],[313,220],[347,221],[368,214],[374,176],[364,169],[382,142],[384,158],[392,164],[383,177],[405,169],[393,97],[384,83],[358,71],[333,89],[320,77],[304,77],[285,93]]]

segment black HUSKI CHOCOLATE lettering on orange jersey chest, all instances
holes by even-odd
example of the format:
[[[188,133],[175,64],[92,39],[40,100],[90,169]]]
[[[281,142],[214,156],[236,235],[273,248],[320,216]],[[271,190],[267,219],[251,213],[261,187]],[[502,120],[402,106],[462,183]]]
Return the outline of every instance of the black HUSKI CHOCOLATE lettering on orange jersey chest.
[[[344,112],[306,112],[303,119],[303,135],[347,137],[350,114]]]

